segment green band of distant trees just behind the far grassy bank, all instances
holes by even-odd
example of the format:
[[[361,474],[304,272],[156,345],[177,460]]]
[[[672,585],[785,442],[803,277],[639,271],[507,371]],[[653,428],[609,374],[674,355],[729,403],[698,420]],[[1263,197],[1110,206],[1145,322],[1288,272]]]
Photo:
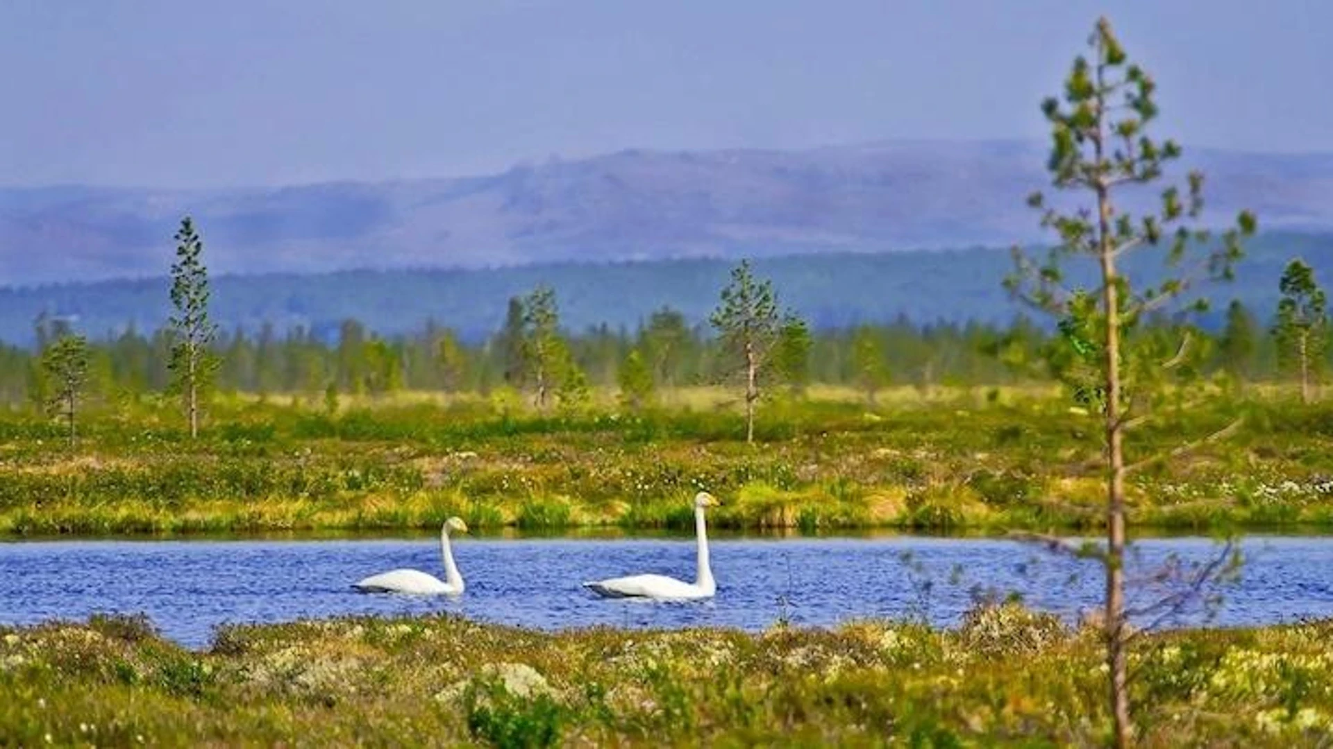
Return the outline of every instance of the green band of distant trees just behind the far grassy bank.
[[[556,301],[553,296],[551,301]],[[481,343],[465,343],[447,324],[433,321],[411,335],[380,336],[357,320],[345,320],[333,341],[301,327],[220,332],[212,345],[219,360],[213,388],[223,393],[297,396],[311,402],[337,394],[384,396],[397,390],[489,393],[509,386],[531,392],[537,382],[529,367],[531,345],[525,345],[532,332],[524,303],[511,300],[505,324]],[[1254,311],[1234,303],[1221,331],[1194,331],[1202,374],[1234,374],[1246,381],[1281,377],[1285,369],[1280,367],[1278,337],[1258,319]],[[552,340],[567,347],[567,364],[576,367],[589,386],[619,392],[628,385],[652,393],[717,384],[734,376],[716,331],[688,324],[672,308],[652,313],[632,329],[599,325],[581,332],[563,329],[556,308],[547,325],[553,331]],[[1172,328],[1168,323],[1157,327],[1164,332]],[[9,408],[40,405],[52,396],[39,352],[59,341],[69,325],[41,317],[35,328],[37,351],[0,345],[0,402]],[[816,382],[850,385],[873,397],[876,389],[890,384],[926,390],[1044,380],[1046,372],[1033,363],[1057,340],[1058,332],[1038,328],[1025,317],[1004,327],[921,324],[900,317],[888,324],[812,331],[804,361],[788,363],[788,371],[770,373],[768,381],[797,390]],[[167,390],[171,345],[168,329],[143,332],[133,327],[89,341],[91,402]],[[1316,369],[1330,364],[1328,356],[1318,364]],[[557,386],[560,367],[549,369],[552,386]],[[632,377],[639,382],[627,381]]]

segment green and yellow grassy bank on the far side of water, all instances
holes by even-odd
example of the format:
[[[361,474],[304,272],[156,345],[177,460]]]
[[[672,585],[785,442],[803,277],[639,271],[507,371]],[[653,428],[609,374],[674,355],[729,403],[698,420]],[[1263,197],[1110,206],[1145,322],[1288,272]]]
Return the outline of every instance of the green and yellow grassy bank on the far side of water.
[[[1104,490],[1094,416],[1049,390],[901,389],[768,404],[758,444],[690,392],[670,406],[540,416],[505,398],[405,397],[339,413],[232,398],[205,436],[173,404],[88,416],[71,452],[39,417],[0,414],[0,534],[477,528],[682,528],[688,497],[717,526],[1089,530]],[[721,393],[712,392],[714,400]],[[1333,528],[1333,406],[1268,396],[1169,412],[1130,460],[1228,438],[1132,477],[1141,528]]]

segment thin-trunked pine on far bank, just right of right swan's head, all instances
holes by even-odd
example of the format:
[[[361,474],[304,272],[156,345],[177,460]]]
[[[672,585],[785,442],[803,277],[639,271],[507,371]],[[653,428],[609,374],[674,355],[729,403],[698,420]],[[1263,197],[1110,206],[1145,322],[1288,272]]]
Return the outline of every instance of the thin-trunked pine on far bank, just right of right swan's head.
[[[745,381],[745,441],[754,441],[754,406],[760,397],[760,376],[768,368],[778,339],[777,296],[768,280],[756,280],[749,261],[732,269],[721,303],[709,319],[717,329],[722,351],[733,372]]]

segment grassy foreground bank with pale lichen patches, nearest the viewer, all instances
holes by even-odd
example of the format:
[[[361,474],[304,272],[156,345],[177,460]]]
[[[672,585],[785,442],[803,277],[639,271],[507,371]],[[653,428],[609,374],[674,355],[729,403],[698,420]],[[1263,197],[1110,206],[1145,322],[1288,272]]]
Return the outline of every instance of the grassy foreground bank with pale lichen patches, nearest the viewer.
[[[1316,744],[1333,624],[1153,634],[1132,657],[1145,746]],[[958,630],[861,622],[560,634],[465,620],[223,630],[0,628],[0,736],[57,745],[1090,745],[1096,634],[1013,605]]]

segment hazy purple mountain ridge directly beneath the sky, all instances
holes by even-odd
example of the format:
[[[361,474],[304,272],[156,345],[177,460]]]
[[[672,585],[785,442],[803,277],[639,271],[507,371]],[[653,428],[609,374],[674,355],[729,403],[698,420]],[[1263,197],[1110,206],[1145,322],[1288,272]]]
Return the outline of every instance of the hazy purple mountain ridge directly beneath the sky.
[[[487,268],[1008,245],[1045,145],[888,141],[809,151],[624,151],[504,173],[284,188],[0,189],[0,287],[157,276],[180,216],[215,273]],[[1333,231],[1333,155],[1186,149],[1205,223]],[[1150,192],[1129,207],[1153,200]]]

